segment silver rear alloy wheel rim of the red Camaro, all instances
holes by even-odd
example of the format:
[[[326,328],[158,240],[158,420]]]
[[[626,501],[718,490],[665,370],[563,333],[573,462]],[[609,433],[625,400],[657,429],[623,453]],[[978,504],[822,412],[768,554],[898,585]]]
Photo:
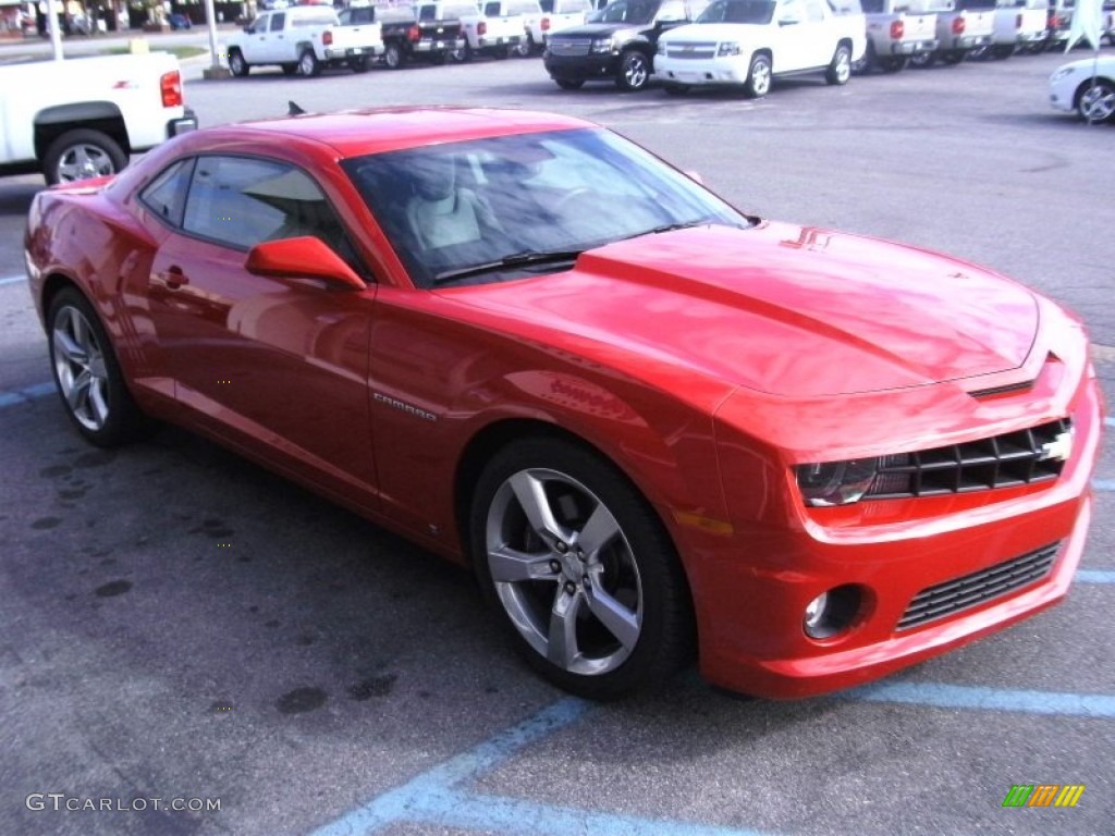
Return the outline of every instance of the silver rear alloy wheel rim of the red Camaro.
[[[67,305],[55,317],[51,340],[55,377],[67,407],[86,429],[104,429],[108,421],[108,371],[89,321],[81,311]]]

